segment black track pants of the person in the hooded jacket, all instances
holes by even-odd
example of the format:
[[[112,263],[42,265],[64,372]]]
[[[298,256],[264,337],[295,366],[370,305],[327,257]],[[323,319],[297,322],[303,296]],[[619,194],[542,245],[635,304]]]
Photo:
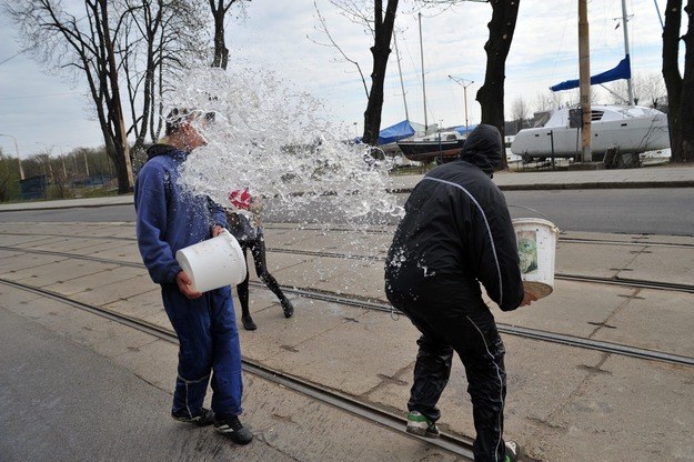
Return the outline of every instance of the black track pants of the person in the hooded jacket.
[[[473,405],[475,461],[503,461],[504,345],[484,302],[465,302],[450,289],[428,290],[416,301],[391,298],[422,333],[408,409],[439,420],[436,403],[449,381],[455,351],[465,368]]]

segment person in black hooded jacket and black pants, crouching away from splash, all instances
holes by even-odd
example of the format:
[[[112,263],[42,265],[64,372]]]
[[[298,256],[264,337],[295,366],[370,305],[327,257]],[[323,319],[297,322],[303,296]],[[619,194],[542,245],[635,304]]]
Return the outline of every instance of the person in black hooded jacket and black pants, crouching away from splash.
[[[453,352],[465,368],[476,431],[475,461],[514,461],[503,440],[504,345],[480,283],[503,311],[536,300],[523,290],[515,233],[491,181],[502,155],[495,127],[470,133],[460,159],[429,172],[405,204],[385,264],[385,292],[422,333],[408,402],[408,431],[437,438],[436,403]]]

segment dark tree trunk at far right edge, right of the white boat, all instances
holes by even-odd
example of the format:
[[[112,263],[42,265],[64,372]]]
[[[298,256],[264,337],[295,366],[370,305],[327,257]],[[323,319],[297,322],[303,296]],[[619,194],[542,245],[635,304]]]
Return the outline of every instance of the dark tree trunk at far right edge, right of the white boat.
[[[682,0],[667,0],[665,26],[663,28],[663,79],[667,89],[667,124],[670,127],[671,162],[681,162],[682,123],[680,108],[682,101],[682,76],[680,74],[680,26],[682,22]]]

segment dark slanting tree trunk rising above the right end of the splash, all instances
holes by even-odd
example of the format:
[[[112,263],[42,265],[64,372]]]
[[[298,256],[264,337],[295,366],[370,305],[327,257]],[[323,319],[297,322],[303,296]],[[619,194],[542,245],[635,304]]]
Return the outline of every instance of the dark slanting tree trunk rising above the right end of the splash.
[[[391,53],[396,11],[398,0],[388,1],[385,17],[383,17],[383,2],[381,0],[374,1],[374,41],[371,48],[373,71],[371,72],[369,103],[364,111],[364,133],[362,137],[365,144],[376,145],[379,143],[381,112],[383,110],[383,81],[385,80],[388,58]]]

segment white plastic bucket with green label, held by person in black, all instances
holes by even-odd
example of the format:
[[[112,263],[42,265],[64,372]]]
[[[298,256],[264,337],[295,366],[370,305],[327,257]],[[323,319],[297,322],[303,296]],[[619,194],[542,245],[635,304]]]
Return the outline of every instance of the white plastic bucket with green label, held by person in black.
[[[521,278],[526,292],[539,299],[554,290],[554,254],[559,228],[539,218],[512,220],[521,259]]]

